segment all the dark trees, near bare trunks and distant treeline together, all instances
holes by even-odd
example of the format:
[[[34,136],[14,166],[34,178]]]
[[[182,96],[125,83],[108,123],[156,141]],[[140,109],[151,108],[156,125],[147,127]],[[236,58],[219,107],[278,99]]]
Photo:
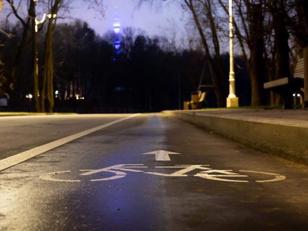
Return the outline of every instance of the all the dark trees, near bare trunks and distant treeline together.
[[[85,2],[93,6],[97,1]],[[10,5],[9,15],[15,15],[19,24],[6,26],[0,35],[0,98],[10,97],[9,107],[21,108],[25,102],[31,105],[31,99],[25,98],[31,93],[33,109],[41,112],[52,112],[54,107],[84,111],[175,109],[198,89],[203,69],[203,84],[211,85],[202,89],[207,92],[204,106],[226,106],[229,1],[170,0],[181,4],[190,17],[190,32],[197,32],[198,37],[186,42],[198,44],[198,49],[179,50],[166,37],[149,37],[127,28],[121,31],[120,54],[113,49],[113,32],[100,37],[80,21],[59,24],[56,13],[64,6],[60,3],[69,6],[72,2],[52,0],[46,6],[45,22],[36,20],[34,1],[20,1],[28,9],[25,19],[16,14],[14,4]],[[162,4],[161,0],[139,2]],[[308,1],[232,2],[239,103],[281,105],[280,95],[264,90],[263,83],[291,78],[296,63],[303,56],[308,59]],[[42,7],[44,4],[37,9]],[[299,91],[303,93],[303,89]],[[308,105],[307,95],[304,105]]]

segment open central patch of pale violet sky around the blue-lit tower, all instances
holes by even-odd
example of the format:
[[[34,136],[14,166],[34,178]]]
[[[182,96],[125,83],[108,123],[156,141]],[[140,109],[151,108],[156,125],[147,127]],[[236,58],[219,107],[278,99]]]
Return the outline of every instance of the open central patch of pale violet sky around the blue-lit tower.
[[[168,21],[176,22],[179,27],[184,26],[183,14],[178,3],[162,2],[162,7],[149,7],[144,4],[138,8],[138,0],[105,0],[105,16],[87,6],[76,5],[71,14],[89,23],[99,34],[112,30],[113,18],[118,13],[122,27],[134,27],[146,31],[149,35],[166,33],[162,30],[169,27]],[[119,5],[119,8],[116,6]],[[86,10],[85,10],[86,8]]]

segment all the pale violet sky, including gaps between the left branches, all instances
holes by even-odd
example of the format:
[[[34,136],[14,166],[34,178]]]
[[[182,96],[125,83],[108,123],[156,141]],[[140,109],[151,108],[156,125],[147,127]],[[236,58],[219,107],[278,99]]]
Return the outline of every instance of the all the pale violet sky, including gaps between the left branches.
[[[75,20],[79,18],[88,22],[98,34],[103,35],[108,30],[112,30],[112,24],[115,15],[119,15],[121,27],[133,27],[144,30],[148,35],[166,35],[168,28],[171,28],[172,23],[176,23],[178,28],[184,28],[185,20],[183,20],[183,11],[178,1],[161,1],[160,7],[150,7],[148,4],[143,4],[138,7],[139,0],[104,0],[104,13],[102,16],[99,11],[89,9],[86,0],[75,1],[70,6],[70,10],[59,12],[59,15],[65,19],[59,20],[58,23]],[[159,2],[159,0],[158,0]],[[27,16],[27,4],[22,2],[18,13],[22,17]],[[118,6],[118,7],[117,7]],[[11,9],[5,2],[3,11],[0,13],[2,25],[5,22],[6,15]],[[44,10],[38,4],[36,9],[37,18],[42,18]],[[9,22],[16,23],[17,20],[13,14],[9,17]]]

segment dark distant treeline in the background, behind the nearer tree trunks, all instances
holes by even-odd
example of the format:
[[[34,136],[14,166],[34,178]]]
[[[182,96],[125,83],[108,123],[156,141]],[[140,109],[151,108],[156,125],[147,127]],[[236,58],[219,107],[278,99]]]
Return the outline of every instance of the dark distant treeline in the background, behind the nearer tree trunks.
[[[22,36],[18,25],[7,31],[15,36],[0,37],[4,44],[1,48],[4,75],[10,72],[10,61]],[[42,67],[44,36],[40,34],[44,33],[38,34],[38,66]],[[205,60],[202,51],[175,52],[164,37],[149,37],[142,31],[125,28],[121,34],[121,52],[117,55],[113,40],[112,32],[98,36],[81,21],[56,26],[53,34],[54,111],[178,109],[184,100],[190,100],[191,91],[198,89]],[[222,55],[222,60],[227,71],[228,55]],[[203,84],[210,85],[207,65],[205,70]],[[240,103],[248,105],[249,80],[245,71],[239,69],[237,74]],[[30,99],[26,96],[33,94],[31,46],[18,63],[14,82],[14,90],[9,92],[9,108],[28,109]],[[215,107],[214,90],[209,88],[207,92],[204,106]],[[46,104],[48,108],[48,101]]]

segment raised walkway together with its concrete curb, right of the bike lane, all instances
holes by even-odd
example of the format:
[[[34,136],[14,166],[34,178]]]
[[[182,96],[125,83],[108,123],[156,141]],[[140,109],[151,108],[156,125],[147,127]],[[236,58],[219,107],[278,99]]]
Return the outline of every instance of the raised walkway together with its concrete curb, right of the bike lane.
[[[206,109],[164,113],[268,153],[308,164],[308,110]]]

